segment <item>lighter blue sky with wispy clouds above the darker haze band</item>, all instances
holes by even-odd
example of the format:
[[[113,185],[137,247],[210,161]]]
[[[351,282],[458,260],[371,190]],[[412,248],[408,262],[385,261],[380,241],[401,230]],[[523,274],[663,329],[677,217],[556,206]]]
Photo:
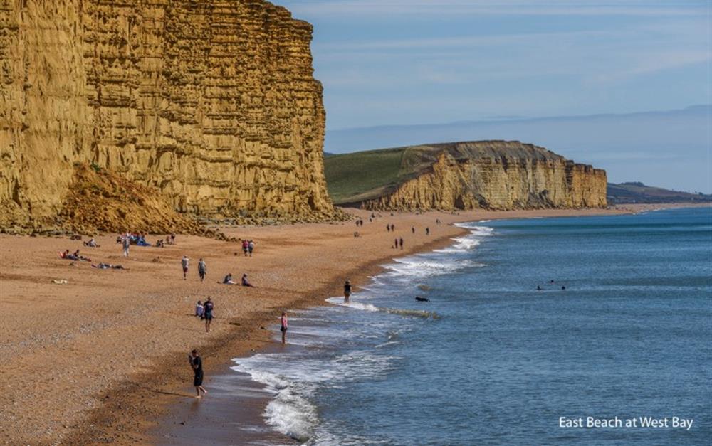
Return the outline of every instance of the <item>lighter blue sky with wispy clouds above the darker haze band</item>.
[[[710,0],[274,3],[314,26],[328,134],[712,103]],[[709,171],[697,181],[681,175],[679,189],[708,183]]]

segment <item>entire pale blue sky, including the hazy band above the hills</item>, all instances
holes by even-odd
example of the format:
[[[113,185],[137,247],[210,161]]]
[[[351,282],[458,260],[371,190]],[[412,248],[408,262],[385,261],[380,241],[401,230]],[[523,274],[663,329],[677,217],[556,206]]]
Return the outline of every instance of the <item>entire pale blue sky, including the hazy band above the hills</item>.
[[[314,26],[328,152],[520,139],[606,169],[609,181],[712,192],[709,1],[274,2]],[[639,113],[659,111],[670,120]],[[601,114],[622,118],[591,116]],[[558,118],[536,129],[544,117]],[[508,125],[428,133],[463,122]]]

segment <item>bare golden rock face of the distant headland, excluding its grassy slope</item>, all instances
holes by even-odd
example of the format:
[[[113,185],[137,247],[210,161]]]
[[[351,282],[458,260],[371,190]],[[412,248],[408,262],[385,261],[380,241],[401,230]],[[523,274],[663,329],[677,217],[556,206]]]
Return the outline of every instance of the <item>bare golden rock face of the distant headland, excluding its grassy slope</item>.
[[[410,152],[410,153],[409,153]],[[532,144],[506,141],[405,149],[411,178],[360,201],[368,209],[517,209],[606,206],[606,172]]]

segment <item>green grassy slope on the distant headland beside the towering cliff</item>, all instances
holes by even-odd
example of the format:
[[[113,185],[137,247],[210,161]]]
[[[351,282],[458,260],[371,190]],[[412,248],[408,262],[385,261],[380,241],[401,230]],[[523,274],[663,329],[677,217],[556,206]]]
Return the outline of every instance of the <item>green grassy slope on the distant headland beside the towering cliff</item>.
[[[369,150],[324,159],[329,195],[335,204],[355,203],[384,195],[434,161],[426,146]]]

